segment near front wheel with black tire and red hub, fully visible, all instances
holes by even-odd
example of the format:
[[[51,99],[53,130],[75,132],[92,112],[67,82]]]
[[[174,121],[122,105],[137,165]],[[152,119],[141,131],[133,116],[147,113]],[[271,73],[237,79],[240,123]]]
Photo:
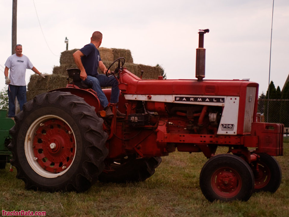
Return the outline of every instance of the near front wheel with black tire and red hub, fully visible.
[[[243,159],[230,154],[216,155],[203,166],[200,187],[209,201],[247,201],[253,193],[254,176]]]

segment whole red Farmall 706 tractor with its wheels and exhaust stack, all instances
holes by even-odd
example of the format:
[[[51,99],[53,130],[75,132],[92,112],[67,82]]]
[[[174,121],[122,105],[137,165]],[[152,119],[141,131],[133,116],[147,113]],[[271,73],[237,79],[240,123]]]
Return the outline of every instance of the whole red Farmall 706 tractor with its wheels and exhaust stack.
[[[26,189],[85,191],[101,182],[144,181],[169,153],[202,152],[209,160],[200,188],[209,201],[244,200],[253,191],[275,192],[283,155],[282,124],[256,122],[258,84],[203,80],[204,34],[200,30],[197,80],[142,80],[125,59],[114,61],[118,103],[126,117],[106,118],[97,93],[68,70],[66,88],[27,102],[10,133],[11,164]],[[113,64],[108,69],[113,68]],[[110,99],[110,89],[104,93]],[[228,152],[215,155],[218,146]]]

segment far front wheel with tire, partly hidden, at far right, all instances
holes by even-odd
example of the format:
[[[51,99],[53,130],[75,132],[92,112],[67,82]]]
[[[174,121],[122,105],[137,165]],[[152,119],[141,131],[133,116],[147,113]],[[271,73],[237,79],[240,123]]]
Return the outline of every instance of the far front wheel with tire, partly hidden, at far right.
[[[259,154],[260,159],[257,162],[258,172],[254,170],[255,192],[269,191],[274,193],[281,184],[282,172],[278,161],[267,154]]]

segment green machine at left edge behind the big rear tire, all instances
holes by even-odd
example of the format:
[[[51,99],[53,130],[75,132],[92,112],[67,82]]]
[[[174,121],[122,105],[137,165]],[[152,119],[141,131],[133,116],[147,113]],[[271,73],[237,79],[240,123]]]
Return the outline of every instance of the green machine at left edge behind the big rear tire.
[[[7,110],[0,110],[0,169],[5,168],[6,163],[12,158],[8,145],[11,141],[9,130],[14,126],[11,118],[6,118]]]

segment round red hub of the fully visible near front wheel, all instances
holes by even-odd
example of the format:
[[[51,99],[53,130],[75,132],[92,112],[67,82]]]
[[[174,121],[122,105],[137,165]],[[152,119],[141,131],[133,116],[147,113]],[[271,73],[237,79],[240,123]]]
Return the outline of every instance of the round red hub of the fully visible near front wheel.
[[[214,172],[211,185],[216,194],[230,198],[240,192],[242,180],[239,173],[232,168],[220,168]]]

